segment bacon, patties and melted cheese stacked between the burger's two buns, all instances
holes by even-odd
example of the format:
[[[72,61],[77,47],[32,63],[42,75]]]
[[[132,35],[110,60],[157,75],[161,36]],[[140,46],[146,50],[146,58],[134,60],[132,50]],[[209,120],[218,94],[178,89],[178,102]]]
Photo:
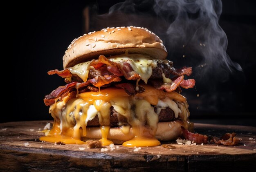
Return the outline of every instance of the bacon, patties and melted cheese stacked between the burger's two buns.
[[[179,121],[184,128],[191,124],[180,87],[194,86],[194,79],[184,79],[192,69],[175,69],[169,60],[100,55],[98,60],[48,73],[58,74],[68,84],[45,96],[54,125],[40,140],[81,144],[94,138],[109,145],[118,139],[124,146],[158,146],[159,123]],[[118,138],[115,128],[122,132]]]

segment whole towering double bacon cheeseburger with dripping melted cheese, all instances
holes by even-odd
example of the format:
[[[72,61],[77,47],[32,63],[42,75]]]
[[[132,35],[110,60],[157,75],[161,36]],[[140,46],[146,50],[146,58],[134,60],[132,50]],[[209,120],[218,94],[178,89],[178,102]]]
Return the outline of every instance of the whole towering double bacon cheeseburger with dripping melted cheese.
[[[176,69],[155,33],[143,27],[111,27],[73,40],[63,56],[65,79],[45,96],[54,118],[41,141],[159,146],[193,130],[181,88],[193,88],[191,67]]]

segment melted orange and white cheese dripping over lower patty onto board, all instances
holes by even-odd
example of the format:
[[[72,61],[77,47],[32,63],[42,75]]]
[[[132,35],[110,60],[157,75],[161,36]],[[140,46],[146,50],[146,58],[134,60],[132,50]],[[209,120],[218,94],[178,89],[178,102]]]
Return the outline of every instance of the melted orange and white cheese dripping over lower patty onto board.
[[[175,116],[176,112],[182,116],[180,114],[182,112],[180,108],[182,108],[185,114],[182,116],[184,121],[189,114],[185,112],[186,108],[183,108],[186,102],[180,102],[177,106],[171,100],[173,97],[183,99],[180,94],[169,94],[146,85],[144,88],[146,91],[136,96],[129,96],[124,89],[105,88],[101,92],[80,93],[78,97],[70,100],[64,98],[63,101],[58,101],[50,106],[49,111],[54,117],[54,126],[49,132],[49,136],[40,137],[40,140],[83,144],[85,142],[81,141],[81,137],[87,137],[87,132],[90,132],[87,128],[88,121],[98,115],[101,141],[103,145],[110,145],[112,142],[109,139],[116,139],[109,135],[110,107],[113,106],[119,114],[126,117],[129,123],[128,126],[120,126],[121,131],[124,134],[133,135],[132,139],[125,140],[124,146],[158,146],[160,142],[155,139],[158,115],[151,104],[168,106],[173,109]],[[149,95],[156,97],[157,101],[147,99]]]

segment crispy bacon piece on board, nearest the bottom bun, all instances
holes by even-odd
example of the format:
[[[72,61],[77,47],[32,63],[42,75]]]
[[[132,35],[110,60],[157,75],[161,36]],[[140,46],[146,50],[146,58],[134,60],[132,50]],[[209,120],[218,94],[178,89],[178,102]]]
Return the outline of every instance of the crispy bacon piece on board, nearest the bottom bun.
[[[201,143],[206,144],[208,141],[207,135],[200,135],[198,133],[190,132],[189,130],[185,129],[183,126],[181,126],[181,129],[182,129],[182,135],[185,139],[194,141],[197,144],[201,144]]]

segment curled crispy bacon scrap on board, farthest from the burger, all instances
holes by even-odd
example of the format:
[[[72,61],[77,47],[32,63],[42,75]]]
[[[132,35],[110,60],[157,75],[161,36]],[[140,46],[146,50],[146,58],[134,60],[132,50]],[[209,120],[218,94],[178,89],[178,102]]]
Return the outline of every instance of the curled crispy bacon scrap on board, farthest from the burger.
[[[235,137],[235,136],[236,136],[236,133],[234,133],[234,132],[226,133],[221,138],[213,137],[213,141],[216,144],[222,144],[225,146],[234,146],[234,145],[237,145],[240,141],[240,138]]]

